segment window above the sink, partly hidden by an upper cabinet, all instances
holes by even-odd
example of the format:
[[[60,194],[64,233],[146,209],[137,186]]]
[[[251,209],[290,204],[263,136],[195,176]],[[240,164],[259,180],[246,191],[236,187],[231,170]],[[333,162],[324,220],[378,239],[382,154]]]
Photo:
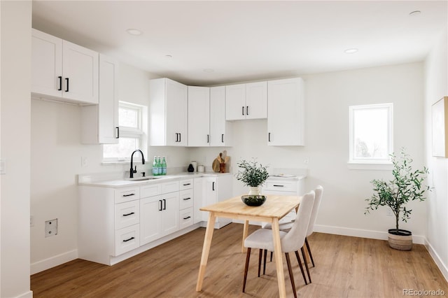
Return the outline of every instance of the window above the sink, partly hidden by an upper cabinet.
[[[103,162],[129,162],[134,150],[146,152],[148,134],[148,108],[120,101],[118,106],[118,124],[120,138],[118,144],[103,145]],[[141,160],[141,155],[134,155]]]

